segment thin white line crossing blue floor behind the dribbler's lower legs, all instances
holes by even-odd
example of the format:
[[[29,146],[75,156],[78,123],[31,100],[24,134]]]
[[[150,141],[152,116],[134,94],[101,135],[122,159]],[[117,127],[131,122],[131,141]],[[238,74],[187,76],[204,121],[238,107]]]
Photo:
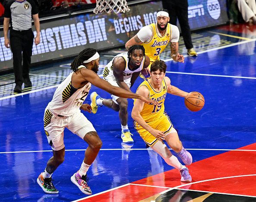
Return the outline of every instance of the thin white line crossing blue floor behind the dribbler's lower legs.
[[[65,151],[85,151],[86,149],[66,149]],[[100,149],[100,151],[118,151],[118,150],[152,150],[152,149]],[[172,149],[169,149],[172,150]],[[197,151],[256,151],[250,149],[186,149],[186,150],[197,150]],[[40,151],[4,151],[0,154],[12,154],[12,153],[30,153],[30,152],[52,152],[52,150],[40,150]]]

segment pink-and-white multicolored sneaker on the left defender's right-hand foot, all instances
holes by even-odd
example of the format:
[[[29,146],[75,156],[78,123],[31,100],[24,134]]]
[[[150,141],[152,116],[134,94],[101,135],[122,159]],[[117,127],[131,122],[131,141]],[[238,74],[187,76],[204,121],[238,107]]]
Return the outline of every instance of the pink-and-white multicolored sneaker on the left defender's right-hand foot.
[[[74,175],[71,177],[71,181],[78,186],[78,188],[81,190],[82,193],[85,193],[87,195],[91,195],[91,189],[87,185],[88,182],[88,177],[87,175],[81,176],[78,172],[76,172]]]

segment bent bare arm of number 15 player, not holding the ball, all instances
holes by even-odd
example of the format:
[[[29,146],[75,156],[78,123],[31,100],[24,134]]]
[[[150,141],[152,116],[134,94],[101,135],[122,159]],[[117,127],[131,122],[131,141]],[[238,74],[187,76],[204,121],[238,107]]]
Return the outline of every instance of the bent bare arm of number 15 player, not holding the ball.
[[[143,95],[143,96],[148,96],[149,90],[147,89],[147,87],[141,86],[137,90],[137,93],[140,94],[140,95]],[[155,136],[160,141],[165,139],[165,135],[162,133],[162,131],[153,129],[141,117],[140,112],[142,111],[143,107],[144,107],[144,103],[141,100],[139,100],[139,99],[135,100],[135,103],[134,103],[134,106],[133,106],[133,109],[132,109],[132,112],[131,112],[131,117],[135,121],[137,121],[137,123],[141,127],[146,129],[148,132],[150,132],[153,136]]]

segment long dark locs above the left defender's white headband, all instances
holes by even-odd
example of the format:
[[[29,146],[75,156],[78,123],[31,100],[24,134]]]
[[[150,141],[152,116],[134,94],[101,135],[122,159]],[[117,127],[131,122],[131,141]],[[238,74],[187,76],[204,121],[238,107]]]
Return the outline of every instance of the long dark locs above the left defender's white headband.
[[[84,60],[88,60],[90,57],[94,56],[97,51],[94,48],[85,48],[81,51],[77,57],[71,63],[71,70],[76,72],[78,70],[78,66],[80,66]]]

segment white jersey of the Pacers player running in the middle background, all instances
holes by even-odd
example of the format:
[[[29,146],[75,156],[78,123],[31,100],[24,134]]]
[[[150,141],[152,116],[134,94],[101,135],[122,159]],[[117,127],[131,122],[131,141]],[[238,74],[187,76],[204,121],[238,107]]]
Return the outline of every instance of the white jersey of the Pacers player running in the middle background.
[[[142,62],[140,64],[140,66],[137,69],[133,69],[133,70],[131,70],[129,68],[129,66],[128,66],[128,54],[127,54],[127,52],[118,54],[115,57],[123,57],[125,59],[125,70],[123,71],[124,81],[128,85],[128,87],[131,87],[131,76],[132,76],[132,74],[134,72],[140,72],[143,69],[144,62],[145,62],[145,57],[143,57],[143,60],[142,60]],[[105,69],[103,71],[103,78],[106,81],[116,81],[116,77],[113,74],[113,61],[114,61],[114,58],[106,65],[106,67],[105,67]]]

